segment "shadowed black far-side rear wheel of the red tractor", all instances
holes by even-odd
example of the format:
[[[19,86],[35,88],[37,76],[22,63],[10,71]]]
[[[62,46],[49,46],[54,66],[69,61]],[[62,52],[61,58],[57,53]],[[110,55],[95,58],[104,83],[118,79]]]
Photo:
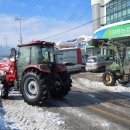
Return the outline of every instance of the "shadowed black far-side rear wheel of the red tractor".
[[[63,98],[70,91],[72,80],[68,73],[62,73],[55,77],[55,85],[50,90],[50,95],[54,98]]]

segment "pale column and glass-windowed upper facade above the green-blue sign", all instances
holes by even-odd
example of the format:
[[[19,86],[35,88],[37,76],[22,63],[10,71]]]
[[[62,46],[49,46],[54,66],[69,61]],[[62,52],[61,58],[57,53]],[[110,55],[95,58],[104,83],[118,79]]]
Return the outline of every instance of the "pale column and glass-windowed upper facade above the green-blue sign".
[[[93,32],[102,26],[130,20],[130,0],[91,0]]]

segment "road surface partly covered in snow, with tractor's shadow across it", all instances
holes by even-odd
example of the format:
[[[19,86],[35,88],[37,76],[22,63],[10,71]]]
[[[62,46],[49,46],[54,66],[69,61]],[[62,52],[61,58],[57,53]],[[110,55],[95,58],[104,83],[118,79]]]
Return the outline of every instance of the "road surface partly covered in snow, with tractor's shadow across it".
[[[48,106],[30,106],[12,91],[0,103],[0,130],[129,130],[129,84],[106,87],[80,74],[72,79],[70,94]]]

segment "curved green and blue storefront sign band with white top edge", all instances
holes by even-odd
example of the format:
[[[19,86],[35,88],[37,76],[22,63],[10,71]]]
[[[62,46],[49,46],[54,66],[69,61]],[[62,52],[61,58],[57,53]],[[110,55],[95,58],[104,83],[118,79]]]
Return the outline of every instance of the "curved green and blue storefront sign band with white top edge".
[[[94,32],[94,39],[113,40],[130,46],[130,20],[107,25]],[[101,54],[109,54],[108,50],[102,50]]]

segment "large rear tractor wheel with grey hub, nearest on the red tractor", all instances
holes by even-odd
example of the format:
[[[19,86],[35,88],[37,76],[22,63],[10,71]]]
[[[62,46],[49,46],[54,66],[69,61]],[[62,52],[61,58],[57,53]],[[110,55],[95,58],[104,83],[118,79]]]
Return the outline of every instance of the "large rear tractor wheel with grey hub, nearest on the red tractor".
[[[23,76],[20,89],[24,101],[30,105],[42,104],[49,96],[44,78],[33,72],[27,72]]]

